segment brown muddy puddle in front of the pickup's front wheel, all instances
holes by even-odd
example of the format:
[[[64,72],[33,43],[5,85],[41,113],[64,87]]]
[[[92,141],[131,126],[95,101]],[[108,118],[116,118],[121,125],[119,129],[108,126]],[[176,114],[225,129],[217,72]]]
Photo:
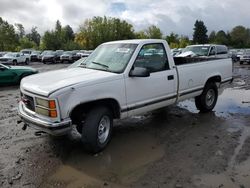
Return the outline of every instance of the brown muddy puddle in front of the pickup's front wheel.
[[[49,181],[65,182],[67,187],[103,186],[105,182],[122,187],[138,180],[163,155],[163,147],[152,135],[134,131],[119,133],[98,155],[91,156],[82,148],[73,150]]]

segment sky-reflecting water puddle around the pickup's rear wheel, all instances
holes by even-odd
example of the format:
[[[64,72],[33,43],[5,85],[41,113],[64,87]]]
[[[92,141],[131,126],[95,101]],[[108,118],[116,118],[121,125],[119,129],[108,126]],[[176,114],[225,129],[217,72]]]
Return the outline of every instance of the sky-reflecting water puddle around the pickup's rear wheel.
[[[178,106],[193,113],[199,112],[195,107],[193,99],[180,102]],[[213,111],[219,117],[234,114],[250,115],[250,90],[225,89],[218,97],[217,104]]]

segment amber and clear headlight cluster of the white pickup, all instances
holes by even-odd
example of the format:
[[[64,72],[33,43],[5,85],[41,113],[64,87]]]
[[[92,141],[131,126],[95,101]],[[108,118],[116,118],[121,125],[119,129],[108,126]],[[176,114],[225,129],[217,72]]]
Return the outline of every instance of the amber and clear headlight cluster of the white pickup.
[[[36,98],[36,113],[56,118],[57,117],[56,101]]]

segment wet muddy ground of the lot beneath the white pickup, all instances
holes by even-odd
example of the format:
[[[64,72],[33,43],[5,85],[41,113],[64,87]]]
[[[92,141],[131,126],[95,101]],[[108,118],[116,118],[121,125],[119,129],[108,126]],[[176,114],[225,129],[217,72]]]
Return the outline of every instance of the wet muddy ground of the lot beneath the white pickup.
[[[115,121],[111,143],[97,155],[73,133],[23,131],[19,88],[1,87],[0,187],[250,187],[250,66],[235,64],[234,77],[211,113],[200,114],[189,100]]]

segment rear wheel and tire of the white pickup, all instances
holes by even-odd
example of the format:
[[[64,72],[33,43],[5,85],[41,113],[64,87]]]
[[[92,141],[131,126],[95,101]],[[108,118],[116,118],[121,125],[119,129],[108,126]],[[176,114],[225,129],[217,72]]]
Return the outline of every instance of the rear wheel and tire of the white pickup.
[[[218,88],[214,82],[205,85],[202,94],[195,97],[195,105],[201,112],[210,112],[216,105],[218,99]]]

